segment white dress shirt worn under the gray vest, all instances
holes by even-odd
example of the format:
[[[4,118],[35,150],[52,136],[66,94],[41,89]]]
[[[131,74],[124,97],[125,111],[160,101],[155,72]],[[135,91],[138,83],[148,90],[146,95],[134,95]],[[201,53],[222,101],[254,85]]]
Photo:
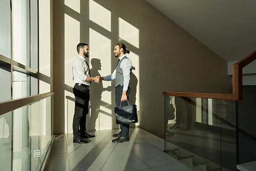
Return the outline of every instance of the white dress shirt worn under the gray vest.
[[[125,55],[122,55],[119,59],[120,61]],[[131,68],[133,67],[133,63],[130,59],[126,58],[123,59],[122,62],[120,63],[120,68],[123,70],[123,91],[126,91],[129,86],[129,81],[130,81],[130,72]],[[104,80],[110,81],[113,79],[116,79],[116,69],[111,75],[103,77]]]

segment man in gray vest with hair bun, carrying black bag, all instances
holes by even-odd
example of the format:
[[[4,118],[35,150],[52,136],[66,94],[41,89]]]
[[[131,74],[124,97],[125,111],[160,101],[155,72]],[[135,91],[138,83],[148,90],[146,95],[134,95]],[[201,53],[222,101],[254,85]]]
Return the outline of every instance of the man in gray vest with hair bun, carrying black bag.
[[[131,72],[133,68],[133,64],[130,59],[128,59],[125,54],[130,53],[130,50],[126,49],[123,43],[119,43],[115,46],[115,57],[118,57],[117,66],[114,72],[111,75],[100,77],[100,80],[110,81],[116,79],[115,82],[115,100],[116,106],[119,106],[121,101],[122,105],[128,105],[127,99],[129,99],[129,95],[131,89],[129,87]],[[117,137],[113,139],[114,143],[121,143],[129,141],[129,129],[130,124],[120,124],[120,133],[114,134],[113,137]]]

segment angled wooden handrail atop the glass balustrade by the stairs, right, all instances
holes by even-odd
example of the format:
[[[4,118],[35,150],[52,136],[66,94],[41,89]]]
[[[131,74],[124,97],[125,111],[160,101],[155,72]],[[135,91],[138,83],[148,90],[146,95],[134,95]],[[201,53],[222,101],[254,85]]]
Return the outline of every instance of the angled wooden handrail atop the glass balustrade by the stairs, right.
[[[220,93],[188,93],[188,92],[163,92],[166,96],[198,97],[225,100],[243,100],[243,68],[256,59],[256,51],[247,55],[233,65],[233,94]]]

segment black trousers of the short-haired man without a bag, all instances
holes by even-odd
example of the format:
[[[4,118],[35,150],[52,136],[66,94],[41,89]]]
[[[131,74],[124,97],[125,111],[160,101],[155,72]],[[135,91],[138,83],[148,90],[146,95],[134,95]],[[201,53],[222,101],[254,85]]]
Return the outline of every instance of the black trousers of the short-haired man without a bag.
[[[86,133],[86,116],[89,112],[90,91],[88,87],[75,84],[75,113],[73,118],[73,138],[77,139]]]

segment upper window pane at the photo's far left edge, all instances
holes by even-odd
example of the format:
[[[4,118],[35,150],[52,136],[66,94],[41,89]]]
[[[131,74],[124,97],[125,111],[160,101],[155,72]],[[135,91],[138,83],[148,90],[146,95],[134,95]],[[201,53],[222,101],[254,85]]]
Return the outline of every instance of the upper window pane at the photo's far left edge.
[[[10,1],[0,5],[0,54],[11,58],[11,8]]]

